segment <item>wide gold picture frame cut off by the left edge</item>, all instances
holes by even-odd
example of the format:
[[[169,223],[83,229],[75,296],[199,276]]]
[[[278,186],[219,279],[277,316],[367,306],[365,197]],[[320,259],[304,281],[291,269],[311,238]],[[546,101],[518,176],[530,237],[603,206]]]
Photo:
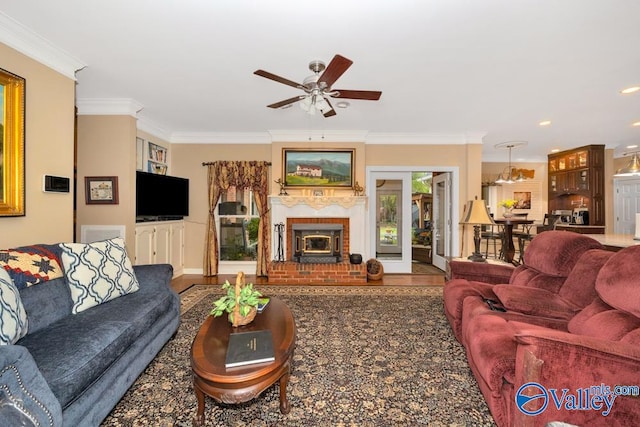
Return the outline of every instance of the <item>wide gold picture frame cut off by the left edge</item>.
[[[25,79],[0,68],[0,216],[25,215]]]

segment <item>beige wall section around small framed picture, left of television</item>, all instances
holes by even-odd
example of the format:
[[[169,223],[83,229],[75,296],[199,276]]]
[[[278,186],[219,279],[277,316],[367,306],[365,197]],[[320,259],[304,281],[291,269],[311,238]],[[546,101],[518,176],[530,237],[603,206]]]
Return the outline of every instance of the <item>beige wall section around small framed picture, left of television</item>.
[[[82,225],[124,225],[133,254],[136,216],[136,119],[131,116],[78,116],[77,240]],[[117,205],[87,205],[87,176],[118,177]]]

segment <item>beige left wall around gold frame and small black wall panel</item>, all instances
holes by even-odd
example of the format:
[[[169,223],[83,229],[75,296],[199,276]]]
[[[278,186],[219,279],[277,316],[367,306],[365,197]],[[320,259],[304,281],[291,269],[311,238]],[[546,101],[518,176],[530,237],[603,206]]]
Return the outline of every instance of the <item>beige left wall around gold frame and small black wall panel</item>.
[[[0,43],[0,67],[26,79],[25,207],[0,217],[0,248],[73,239],[73,188],[44,193],[44,175],[73,182],[75,82]]]

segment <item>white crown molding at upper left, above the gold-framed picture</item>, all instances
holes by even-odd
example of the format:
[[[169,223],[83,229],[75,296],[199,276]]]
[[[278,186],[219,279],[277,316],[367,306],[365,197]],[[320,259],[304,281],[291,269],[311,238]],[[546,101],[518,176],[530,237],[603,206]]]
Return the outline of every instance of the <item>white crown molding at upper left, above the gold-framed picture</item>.
[[[3,12],[0,12],[0,42],[72,80],[76,80],[76,71],[87,66]]]

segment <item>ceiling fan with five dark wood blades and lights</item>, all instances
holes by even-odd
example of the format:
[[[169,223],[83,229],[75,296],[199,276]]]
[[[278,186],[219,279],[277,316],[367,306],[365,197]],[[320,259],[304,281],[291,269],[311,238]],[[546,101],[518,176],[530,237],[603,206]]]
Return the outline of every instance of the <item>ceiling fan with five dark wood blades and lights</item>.
[[[353,61],[341,55],[334,56],[328,67],[325,67],[325,63],[322,61],[311,61],[309,69],[314,74],[304,79],[302,84],[264,70],[256,70],[253,74],[296,89],[302,89],[305,92],[303,95],[294,96],[293,98],[267,105],[267,107],[282,108],[300,101],[300,107],[309,114],[315,114],[316,111],[320,111],[325,117],[331,117],[335,116],[336,112],[331,102],[329,102],[329,97],[377,101],[382,95],[382,92],[371,90],[333,89],[333,84],[347,71],[351,64],[353,64]]]

